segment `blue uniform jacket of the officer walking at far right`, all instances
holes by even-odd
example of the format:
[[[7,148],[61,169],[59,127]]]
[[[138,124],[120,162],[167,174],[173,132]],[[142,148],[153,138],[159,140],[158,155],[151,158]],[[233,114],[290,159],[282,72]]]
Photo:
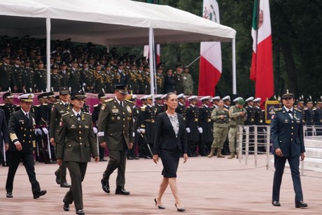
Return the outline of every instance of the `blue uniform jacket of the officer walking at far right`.
[[[293,109],[293,119],[283,107],[275,109],[275,115],[272,119],[271,139],[274,149],[281,148],[286,158],[299,157],[305,152],[303,139],[302,112]],[[275,151],[273,151],[275,155]]]

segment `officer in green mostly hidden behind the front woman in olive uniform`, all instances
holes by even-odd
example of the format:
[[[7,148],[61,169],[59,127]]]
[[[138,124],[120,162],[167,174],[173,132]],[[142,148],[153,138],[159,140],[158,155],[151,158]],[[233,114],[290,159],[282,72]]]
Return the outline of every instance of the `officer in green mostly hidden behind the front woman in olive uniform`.
[[[60,118],[65,113],[69,113],[71,111],[71,105],[69,104],[69,90],[64,87],[59,89],[60,102],[57,102],[52,105],[52,111],[50,116],[50,144],[55,146],[55,143],[58,142],[59,139],[59,128],[60,128]],[[62,162],[62,165],[59,165],[59,168],[55,172],[56,183],[60,184],[62,188],[71,187],[66,181],[66,165]]]

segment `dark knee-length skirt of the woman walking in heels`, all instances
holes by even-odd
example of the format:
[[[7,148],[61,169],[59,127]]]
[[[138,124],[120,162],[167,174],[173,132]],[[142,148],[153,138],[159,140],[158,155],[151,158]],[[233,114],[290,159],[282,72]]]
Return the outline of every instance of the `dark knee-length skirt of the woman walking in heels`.
[[[160,148],[160,158],[163,165],[162,175],[165,178],[176,178],[176,170],[178,169],[180,154],[181,152],[179,148]]]

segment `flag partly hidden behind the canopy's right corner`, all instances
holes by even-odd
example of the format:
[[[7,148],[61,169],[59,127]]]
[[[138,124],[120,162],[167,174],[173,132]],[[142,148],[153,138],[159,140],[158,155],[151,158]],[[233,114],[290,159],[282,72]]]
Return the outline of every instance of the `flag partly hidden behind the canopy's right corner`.
[[[202,16],[220,24],[219,8],[216,0],[204,0]],[[200,74],[198,95],[215,95],[215,87],[221,78],[221,43],[200,43]]]

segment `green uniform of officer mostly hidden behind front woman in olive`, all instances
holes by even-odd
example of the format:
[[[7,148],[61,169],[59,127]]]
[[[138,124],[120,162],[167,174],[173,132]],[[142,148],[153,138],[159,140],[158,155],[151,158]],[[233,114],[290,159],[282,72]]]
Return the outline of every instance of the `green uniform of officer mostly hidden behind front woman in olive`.
[[[59,129],[60,129],[60,118],[65,113],[69,113],[71,111],[70,104],[64,104],[63,102],[56,102],[52,105],[52,111],[50,116],[50,132],[49,137],[55,139],[55,143],[58,142],[59,139]],[[57,149],[57,148],[56,148]],[[66,183],[66,165],[63,162],[62,165],[56,170],[55,174],[60,176],[60,183]]]

